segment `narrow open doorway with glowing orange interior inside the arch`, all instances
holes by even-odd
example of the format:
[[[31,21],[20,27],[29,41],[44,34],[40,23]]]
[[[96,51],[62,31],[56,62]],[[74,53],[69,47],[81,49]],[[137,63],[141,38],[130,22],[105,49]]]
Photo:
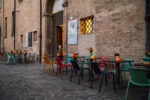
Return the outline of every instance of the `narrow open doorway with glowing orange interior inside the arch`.
[[[63,33],[64,33],[64,26],[59,25],[57,26],[57,51],[61,50],[63,54]]]

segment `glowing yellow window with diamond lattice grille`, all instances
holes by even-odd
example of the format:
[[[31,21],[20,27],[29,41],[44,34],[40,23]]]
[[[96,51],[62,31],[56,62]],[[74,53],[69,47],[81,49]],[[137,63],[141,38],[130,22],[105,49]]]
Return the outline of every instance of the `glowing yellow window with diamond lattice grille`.
[[[94,16],[80,19],[80,34],[91,34],[94,32]]]

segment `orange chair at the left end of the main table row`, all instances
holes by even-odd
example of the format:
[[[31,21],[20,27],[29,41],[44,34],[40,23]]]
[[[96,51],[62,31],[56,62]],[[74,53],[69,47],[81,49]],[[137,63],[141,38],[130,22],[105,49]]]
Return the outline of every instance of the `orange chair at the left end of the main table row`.
[[[49,68],[48,68],[48,74],[50,74],[51,65],[52,65],[52,70],[54,72],[54,66],[53,65],[56,64],[56,63],[49,61],[47,56],[44,56],[43,59],[44,59],[44,68],[43,68],[42,72],[45,71],[45,67],[46,66],[49,66]]]

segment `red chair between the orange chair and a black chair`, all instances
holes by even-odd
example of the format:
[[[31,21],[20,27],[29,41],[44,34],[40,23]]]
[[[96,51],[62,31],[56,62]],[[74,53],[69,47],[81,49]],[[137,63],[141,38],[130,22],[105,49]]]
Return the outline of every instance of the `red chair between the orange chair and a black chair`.
[[[70,64],[63,64],[63,58],[56,58],[57,63],[57,69],[56,69],[56,75],[58,73],[58,69],[61,68],[61,79],[63,78],[64,68],[70,67],[70,70],[72,71],[72,66]]]

